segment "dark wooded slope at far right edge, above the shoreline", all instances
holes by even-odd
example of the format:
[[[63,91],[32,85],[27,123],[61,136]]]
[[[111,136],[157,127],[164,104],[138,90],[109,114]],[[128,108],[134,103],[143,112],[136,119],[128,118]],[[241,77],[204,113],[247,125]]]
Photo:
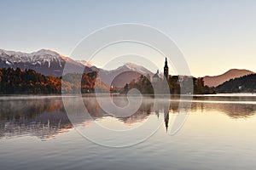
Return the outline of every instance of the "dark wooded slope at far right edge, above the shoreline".
[[[219,94],[256,93],[256,74],[230,79],[216,88]]]

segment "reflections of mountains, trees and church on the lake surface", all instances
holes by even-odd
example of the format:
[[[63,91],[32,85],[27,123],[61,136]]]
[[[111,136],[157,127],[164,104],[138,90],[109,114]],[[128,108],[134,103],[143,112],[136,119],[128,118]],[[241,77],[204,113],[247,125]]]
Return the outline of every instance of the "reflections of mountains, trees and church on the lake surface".
[[[102,97],[104,100],[104,97]],[[73,105],[75,109],[79,108],[79,103],[74,102],[76,98],[68,98],[70,102],[66,104]],[[248,98],[246,98],[249,100]],[[212,103],[213,98],[196,98],[191,105],[190,111],[220,111],[232,118],[245,118],[253,116],[256,113],[256,105],[253,104],[234,104],[229,99],[223,98],[223,101]],[[217,100],[217,99],[215,99]],[[243,101],[244,98],[234,98],[235,102]],[[156,102],[155,102],[156,101]],[[101,106],[97,103],[95,97],[84,96],[84,106],[90,113],[90,116],[81,116],[74,125],[88,124],[94,119],[109,117]],[[125,97],[113,96],[113,103],[119,106],[125,106],[127,99]],[[154,98],[144,98],[143,104],[139,110],[129,116],[115,116],[119,122],[131,126],[133,123],[143,122],[151,114],[165,117],[166,129],[169,126],[169,115],[177,114],[179,101],[172,101],[168,104],[166,99],[154,100]],[[79,110],[73,110],[73,115],[79,113]],[[82,113],[84,114],[84,113]],[[69,115],[70,116],[70,115]],[[0,100],[0,138],[9,138],[17,136],[36,136],[40,139],[51,139],[56,134],[66,132],[73,127],[69,120],[70,117],[62,104],[60,97],[6,97]]]

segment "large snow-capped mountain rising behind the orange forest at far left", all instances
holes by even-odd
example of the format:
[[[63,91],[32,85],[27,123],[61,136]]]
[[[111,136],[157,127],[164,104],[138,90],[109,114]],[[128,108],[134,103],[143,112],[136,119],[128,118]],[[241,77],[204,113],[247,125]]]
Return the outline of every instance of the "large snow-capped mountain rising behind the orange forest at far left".
[[[84,67],[73,59],[49,49],[41,49],[31,54],[0,49],[0,68],[20,67],[22,70],[32,69],[46,76],[61,77],[66,63],[71,65],[71,71]]]

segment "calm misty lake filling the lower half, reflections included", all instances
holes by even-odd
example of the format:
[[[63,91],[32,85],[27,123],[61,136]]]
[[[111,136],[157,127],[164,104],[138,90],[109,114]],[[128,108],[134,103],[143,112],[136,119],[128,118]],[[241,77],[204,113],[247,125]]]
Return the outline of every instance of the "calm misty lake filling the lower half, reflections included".
[[[255,94],[131,99],[129,114],[119,95],[113,113],[106,96],[0,97],[1,169],[256,168]]]

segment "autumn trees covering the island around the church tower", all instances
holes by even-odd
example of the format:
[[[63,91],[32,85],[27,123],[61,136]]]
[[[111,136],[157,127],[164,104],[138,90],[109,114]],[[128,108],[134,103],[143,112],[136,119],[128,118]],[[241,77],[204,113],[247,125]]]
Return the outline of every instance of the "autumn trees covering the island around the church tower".
[[[162,79],[151,82],[149,76],[145,77],[142,75],[137,80],[125,84],[125,87],[120,92],[126,94],[131,88],[137,88],[142,94],[154,94],[154,89],[160,94],[165,94],[166,92],[170,92],[170,94],[216,94],[215,88],[206,86],[202,77],[170,76],[167,83],[167,88],[169,89],[166,89],[166,85]]]

